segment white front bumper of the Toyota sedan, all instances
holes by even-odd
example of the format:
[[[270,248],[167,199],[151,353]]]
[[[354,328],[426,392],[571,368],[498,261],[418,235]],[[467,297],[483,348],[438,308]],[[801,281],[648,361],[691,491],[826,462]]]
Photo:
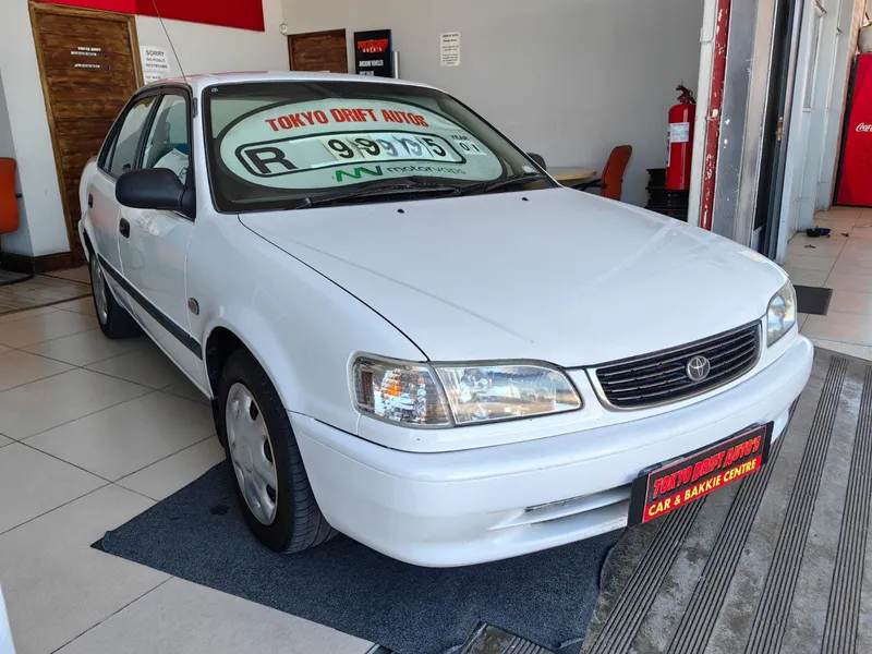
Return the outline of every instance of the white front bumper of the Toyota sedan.
[[[407,562],[462,566],[620,529],[640,471],[755,424],[774,422],[777,438],[812,358],[798,337],[743,383],[675,411],[463,451],[403,452],[300,414],[291,422],[330,524]]]

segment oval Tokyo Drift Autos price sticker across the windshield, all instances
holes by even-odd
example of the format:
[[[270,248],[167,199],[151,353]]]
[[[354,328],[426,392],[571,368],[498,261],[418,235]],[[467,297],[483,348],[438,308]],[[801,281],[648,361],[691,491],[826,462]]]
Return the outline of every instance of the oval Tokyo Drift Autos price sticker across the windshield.
[[[376,170],[464,181],[502,174],[499,158],[453,121],[392,101],[326,98],[258,109],[226,130],[219,153],[238,178],[276,189],[361,183]]]

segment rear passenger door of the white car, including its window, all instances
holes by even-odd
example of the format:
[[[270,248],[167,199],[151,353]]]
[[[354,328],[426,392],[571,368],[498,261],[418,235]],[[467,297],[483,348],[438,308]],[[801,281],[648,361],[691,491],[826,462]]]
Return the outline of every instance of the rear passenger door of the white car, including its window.
[[[97,159],[97,172],[88,186],[88,215],[94,228],[93,243],[97,253],[108,265],[121,270],[119,254],[119,211],[116,199],[116,180],[133,168],[140,142],[145,133],[156,96],[144,96],[133,100],[121,113]],[[111,275],[107,276],[116,298],[128,304],[126,293]]]

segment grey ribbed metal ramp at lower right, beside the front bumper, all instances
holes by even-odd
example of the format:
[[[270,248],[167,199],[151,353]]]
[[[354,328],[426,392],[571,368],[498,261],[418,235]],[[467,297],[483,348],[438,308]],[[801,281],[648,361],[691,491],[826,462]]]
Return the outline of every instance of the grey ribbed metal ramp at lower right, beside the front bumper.
[[[872,652],[869,362],[819,350],[772,455],[695,511],[625,533],[583,652]]]

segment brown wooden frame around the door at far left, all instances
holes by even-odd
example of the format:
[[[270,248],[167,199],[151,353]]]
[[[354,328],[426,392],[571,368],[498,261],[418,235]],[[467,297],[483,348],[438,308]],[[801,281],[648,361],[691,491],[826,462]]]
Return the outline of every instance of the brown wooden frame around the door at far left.
[[[31,12],[31,32],[34,39],[34,48],[36,49],[36,60],[39,63],[39,82],[43,86],[43,99],[46,102],[46,117],[48,119],[49,134],[51,134],[51,149],[55,155],[55,169],[58,175],[58,190],[61,195],[61,206],[63,206],[64,223],[66,225],[66,239],[70,245],[70,256],[73,259],[72,265],[78,266],[84,263],[84,258],[76,256],[75,242],[78,239],[78,230],[73,220],[72,208],[66,199],[66,185],[63,179],[63,167],[61,161],[60,148],[58,147],[57,126],[55,123],[55,114],[51,109],[51,99],[49,95],[48,78],[46,77],[46,65],[43,58],[43,48],[39,39],[39,28],[37,26],[37,16],[43,15],[61,15],[71,19],[97,19],[102,21],[111,21],[114,23],[123,23],[128,27],[128,35],[130,37],[131,55],[133,59],[134,73],[136,75],[136,83],[140,87],[143,86],[143,70],[140,61],[140,38],[136,34],[136,17],[133,14],[114,13],[109,11],[96,11],[92,9],[81,9],[77,7],[66,7],[62,4],[49,4],[47,2],[35,2],[28,0]],[[80,261],[82,259],[82,261]]]

